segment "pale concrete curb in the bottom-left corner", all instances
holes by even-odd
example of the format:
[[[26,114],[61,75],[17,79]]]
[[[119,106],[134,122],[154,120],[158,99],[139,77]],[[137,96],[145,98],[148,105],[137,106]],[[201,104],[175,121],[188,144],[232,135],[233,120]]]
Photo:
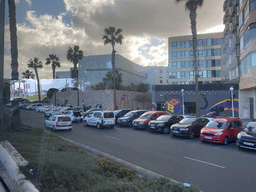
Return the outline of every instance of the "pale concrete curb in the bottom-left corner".
[[[17,163],[3,146],[6,144],[11,146],[8,141],[0,142],[0,161],[10,177],[12,185],[16,185],[16,188],[18,188],[16,190],[20,192],[39,192],[38,189],[30,181],[26,180],[26,177],[19,171]],[[9,188],[12,187],[13,186],[10,186]]]

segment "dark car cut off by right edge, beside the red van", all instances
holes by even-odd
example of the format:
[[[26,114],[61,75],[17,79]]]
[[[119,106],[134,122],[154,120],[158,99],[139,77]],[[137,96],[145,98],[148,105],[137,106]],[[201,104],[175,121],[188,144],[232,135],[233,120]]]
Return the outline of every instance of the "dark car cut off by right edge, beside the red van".
[[[256,122],[249,122],[243,131],[238,133],[236,144],[238,148],[256,150]]]

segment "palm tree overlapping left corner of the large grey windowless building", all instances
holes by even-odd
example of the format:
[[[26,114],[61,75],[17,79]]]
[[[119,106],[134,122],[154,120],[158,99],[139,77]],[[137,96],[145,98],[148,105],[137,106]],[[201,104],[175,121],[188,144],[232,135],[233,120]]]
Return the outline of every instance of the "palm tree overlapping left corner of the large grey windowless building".
[[[78,90],[78,71],[77,71],[77,64],[80,60],[83,59],[84,53],[83,51],[79,50],[78,45],[74,45],[74,48],[68,48],[67,51],[67,60],[74,64],[74,76],[72,78],[76,79],[76,88],[77,88],[77,106],[79,106],[79,90]]]

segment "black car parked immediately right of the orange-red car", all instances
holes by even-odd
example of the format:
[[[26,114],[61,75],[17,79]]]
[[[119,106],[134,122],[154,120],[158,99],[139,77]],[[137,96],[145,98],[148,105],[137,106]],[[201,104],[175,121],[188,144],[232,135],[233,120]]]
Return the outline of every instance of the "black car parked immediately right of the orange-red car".
[[[163,132],[165,134],[170,133],[170,126],[180,122],[182,120],[182,116],[177,115],[161,115],[156,120],[150,121],[149,131]]]

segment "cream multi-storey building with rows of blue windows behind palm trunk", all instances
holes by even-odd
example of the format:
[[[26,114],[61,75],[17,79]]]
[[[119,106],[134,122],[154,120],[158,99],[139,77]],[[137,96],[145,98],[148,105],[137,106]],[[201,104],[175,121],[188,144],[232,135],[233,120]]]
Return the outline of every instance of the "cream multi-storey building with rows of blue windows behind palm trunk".
[[[199,84],[221,83],[221,44],[223,33],[197,36]],[[169,84],[194,84],[192,35],[169,37]]]

